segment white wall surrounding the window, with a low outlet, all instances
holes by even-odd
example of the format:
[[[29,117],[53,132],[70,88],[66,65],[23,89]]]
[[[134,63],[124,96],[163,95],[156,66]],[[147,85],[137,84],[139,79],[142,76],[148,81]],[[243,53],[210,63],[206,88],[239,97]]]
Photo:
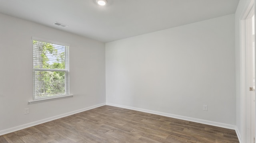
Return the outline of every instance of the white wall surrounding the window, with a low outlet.
[[[32,36],[70,44],[73,98],[28,105],[33,95]],[[0,134],[105,102],[104,43],[0,14]],[[30,114],[24,115],[24,108]]]

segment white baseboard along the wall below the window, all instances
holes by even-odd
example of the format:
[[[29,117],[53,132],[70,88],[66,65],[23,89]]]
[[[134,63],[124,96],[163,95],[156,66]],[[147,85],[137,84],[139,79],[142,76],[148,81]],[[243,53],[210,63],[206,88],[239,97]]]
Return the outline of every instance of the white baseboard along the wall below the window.
[[[84,112],[84,111],[87,111],[87,110],[91,110],[91,109],[94,109],[94,108],[97,108],[97,107],[100,107],[100,106],[104,106],[104,105],[106,105],[106,103],[90,106],[90,107],[87,107],[87,108],[79,109],[79,110],[76,110],[76,111],[68,112],[68,113],[65,113],[65,114],[53,116],[53,117],[46,118],[46,119],[41,119],[39,121],[34,121],[32,123],[19,125],[19,126],[12,127],[12,128],[9,128],[9,129],[4,129],[4,130],[0,131],[0,135],[5,135],[7,133],[12,133],[14,131],[18,131],[18,130],[21,130],[21,129],[32,127],[34,125],[39,125],[41,123],[45,123],[45,122],[52,121],[52,120],[55,120],[55,119],[63,118],[63,117],[70,116],[70,115],[73,115],[73,114],[77,114],[77,113],[80,113],[80,112]]]

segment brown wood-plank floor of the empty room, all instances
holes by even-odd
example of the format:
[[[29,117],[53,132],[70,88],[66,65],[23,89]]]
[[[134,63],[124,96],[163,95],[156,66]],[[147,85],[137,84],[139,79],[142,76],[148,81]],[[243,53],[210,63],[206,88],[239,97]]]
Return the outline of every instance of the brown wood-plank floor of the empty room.
[[[102,106],[0,136],[0,143],[239,143],[231,129]]]

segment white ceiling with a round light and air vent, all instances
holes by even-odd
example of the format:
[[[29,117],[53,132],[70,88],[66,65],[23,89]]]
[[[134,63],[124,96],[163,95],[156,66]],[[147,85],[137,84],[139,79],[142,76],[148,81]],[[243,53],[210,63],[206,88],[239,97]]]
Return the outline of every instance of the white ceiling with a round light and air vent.
[[[239,0],[0,0],[0,13],[102,42],[233,14]],[[60,22],[68,27],[54,25]]]

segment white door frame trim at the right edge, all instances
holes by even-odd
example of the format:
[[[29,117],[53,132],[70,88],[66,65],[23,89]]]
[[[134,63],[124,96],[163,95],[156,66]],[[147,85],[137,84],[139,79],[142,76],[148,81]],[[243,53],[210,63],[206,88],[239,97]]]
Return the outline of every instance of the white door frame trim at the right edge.
[[[247,57],[248,53],[246,50],[246,18],[250,14],[252,8],[254,8],[255,14],[255,0],[250,0],[248,6],[246,7],[242,17],[240,18],[240,119],[241,119],[241,136],[242,139],[240,140],[241,143],[249,143],[251,139],[251,131],[250,131],[250,102],[248,100],[248,74],[247,74]],[[254,16],[255,18],[255,16]],[[255,26],[255,25],[254,25]],[[255,55],[255,53],[254,53]],[[256,126],[256,125],[255,125]],[[254,126],[254,128],[256,128]]]

